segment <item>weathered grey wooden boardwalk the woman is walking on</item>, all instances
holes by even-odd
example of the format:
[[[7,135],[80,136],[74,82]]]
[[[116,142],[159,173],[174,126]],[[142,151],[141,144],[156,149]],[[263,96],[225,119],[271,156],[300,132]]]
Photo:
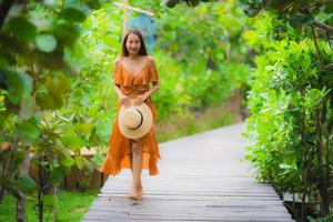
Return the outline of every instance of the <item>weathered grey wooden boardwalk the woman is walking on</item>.
[[[109,176],[83,221],[293,221],[269,183],[240,161],[244,124],[161,143],[160,174],[142,173],[143,200],[127,198],[130,170]]]

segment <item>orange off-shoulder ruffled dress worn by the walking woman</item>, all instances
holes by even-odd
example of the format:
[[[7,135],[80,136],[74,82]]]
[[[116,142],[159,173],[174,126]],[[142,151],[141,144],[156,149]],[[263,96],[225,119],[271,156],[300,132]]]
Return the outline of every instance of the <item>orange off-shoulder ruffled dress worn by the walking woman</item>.
[[[143,94],[150,89],[151,82],[159,81],[159,75],[153,59],[151,57],[148,57],[147,59],[148,61],[145,67],[135,75],[131,74],[124,69],[121,60],[115,63],[113,83],[119,84],[121,87],[121,92],[127,94],[130,99]],[[161,159],[155,138],[157,109],[151,98],[147,99],[144,102],[152,110],[153,127],[144,137],[138,139],[138,141],[143,147],[143,169],[149,169],[149,174],[155,175],[159,174],[157,167],[158,159]],[[117,105],[118,114],[120,107],[121,100],[118,101]],[[130,157],[132,154],[132,140],[121,134],[118,127],[118,114],[114,119],[109,140],[109,151],[100,168],[100,172],[112,175],[120,173],[121,169],[131,169]]]

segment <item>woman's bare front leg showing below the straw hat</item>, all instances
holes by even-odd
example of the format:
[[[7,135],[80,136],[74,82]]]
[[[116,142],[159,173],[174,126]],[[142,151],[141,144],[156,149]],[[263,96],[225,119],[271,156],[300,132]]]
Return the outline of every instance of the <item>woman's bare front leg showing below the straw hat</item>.
[[[133,194],[139,194],[142,192],[142,183],[141,183],[141,172],[142,172],[142,159],[143,159],[143,149],[140,143],[133,141],[132,142],[132,189],[131,192]]]

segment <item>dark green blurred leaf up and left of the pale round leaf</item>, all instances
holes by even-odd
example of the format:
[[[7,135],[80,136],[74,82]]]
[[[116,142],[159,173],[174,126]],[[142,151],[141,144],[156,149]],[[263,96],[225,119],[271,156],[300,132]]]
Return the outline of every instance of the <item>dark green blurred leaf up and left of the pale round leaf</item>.
[[[14,34],[19,40],[32,41],[37,33],[37,28],[23,17],[12,18],[8,22],[7,31]]]

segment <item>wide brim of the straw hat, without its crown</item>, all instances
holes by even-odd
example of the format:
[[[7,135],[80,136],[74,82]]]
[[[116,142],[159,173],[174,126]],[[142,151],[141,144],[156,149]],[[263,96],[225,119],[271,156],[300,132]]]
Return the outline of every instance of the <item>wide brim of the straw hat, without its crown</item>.
[[[124,110],[128,109],[124,105],[120,107],[119,115],[118,115],[118,125],[119,125],[120,132],[125,138],[139,139],[139,138],[142,138],[143,135],[145,135],[152,127],[152,123],[153,123],[152,111],[151,111],[150,107],[148,104],[145,104],[144,102],[140,105],[132,104],[131,107],[139,109],[143,115],[143,121],[142,121],[142,124],[140,125],[140,128],[138,128],[135,130],[131,130],[123,124],[123,121],[122,121],[123,113],[124,113]]]

